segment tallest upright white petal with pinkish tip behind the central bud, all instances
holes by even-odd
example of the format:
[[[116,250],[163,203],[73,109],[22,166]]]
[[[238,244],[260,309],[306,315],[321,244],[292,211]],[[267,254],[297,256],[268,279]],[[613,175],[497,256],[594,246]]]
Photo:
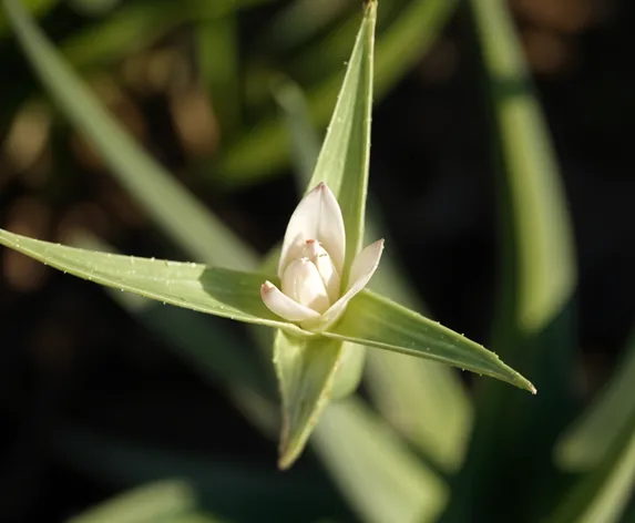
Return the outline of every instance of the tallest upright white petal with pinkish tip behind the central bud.
[[[344,218],[337,199],[324,183],[301,199],[289,219],[278,263],[280,278],[291,259],[300,256],[307,239],[320,242],[341,273],[346,248]]]

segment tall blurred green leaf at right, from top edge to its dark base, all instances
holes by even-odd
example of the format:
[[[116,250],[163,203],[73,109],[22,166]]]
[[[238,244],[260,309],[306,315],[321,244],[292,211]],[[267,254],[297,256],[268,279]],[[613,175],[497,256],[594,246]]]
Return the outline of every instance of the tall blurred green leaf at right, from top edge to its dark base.
[[[509,2],[469,4],[498,183],[501,263],[490,345],[531,373],[541,393],[530,401],[482,383],[468,460],[443,523],[488,519],[494,505],[510,521],[533,521],[551,502],[553,444],[573,407],[575,255],[555,154]]]

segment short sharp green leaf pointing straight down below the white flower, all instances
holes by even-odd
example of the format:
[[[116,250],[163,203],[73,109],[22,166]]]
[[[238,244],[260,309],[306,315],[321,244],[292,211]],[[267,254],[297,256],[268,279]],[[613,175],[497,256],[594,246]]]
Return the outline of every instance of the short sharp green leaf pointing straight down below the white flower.
[[[297,338],[283,330],[274,341],[274,365],[283,399],[278,466],[288,469],[304,450],[332,387],[341,341]]]

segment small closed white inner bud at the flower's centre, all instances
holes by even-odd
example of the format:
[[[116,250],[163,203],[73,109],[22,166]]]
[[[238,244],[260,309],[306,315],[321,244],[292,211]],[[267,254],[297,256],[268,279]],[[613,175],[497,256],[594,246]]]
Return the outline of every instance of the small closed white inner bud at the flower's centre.
[[[283,293],[298,304],[324,312],[330,300],[317,267],[308,258],[294,259],[283,274]]]

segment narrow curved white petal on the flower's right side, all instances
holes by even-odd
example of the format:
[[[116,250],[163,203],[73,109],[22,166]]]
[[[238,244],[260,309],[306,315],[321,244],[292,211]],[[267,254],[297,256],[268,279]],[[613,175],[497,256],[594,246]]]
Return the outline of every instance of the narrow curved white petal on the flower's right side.
[[[382,250],[383,239],[379,239],[359,253],[350,268],[350,283],[348,284],[346,294],[332,304],[320,318],[316,320],[309,319],[301,324],[303,327],[319,331],[327,329],[330,325],[336,322],[346,310],[348,302],[370,281],[370,278],[379,265]]]

